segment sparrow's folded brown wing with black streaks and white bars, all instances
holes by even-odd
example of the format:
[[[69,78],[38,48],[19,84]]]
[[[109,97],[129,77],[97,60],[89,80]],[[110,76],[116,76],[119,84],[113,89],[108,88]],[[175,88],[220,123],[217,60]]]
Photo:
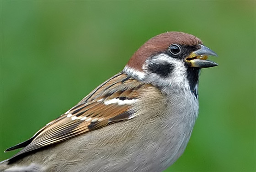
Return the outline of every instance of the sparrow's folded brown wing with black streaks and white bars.
[[[25,147],[14,155],[17,157],[113,122],[128,120],[133,117],[134,111],[130,107],[137,101],[139,90],[147,86],[149,84],[121,72],[98,86],[65,114],[49,122],[32,138],[10,147],[5,152]]]

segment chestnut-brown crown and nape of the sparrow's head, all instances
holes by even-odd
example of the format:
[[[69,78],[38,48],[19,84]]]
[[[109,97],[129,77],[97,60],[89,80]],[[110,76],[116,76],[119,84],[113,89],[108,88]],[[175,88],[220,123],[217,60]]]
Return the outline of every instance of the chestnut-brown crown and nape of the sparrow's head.
[[[128,61],[127,66],[142,71],[146,59],[161,51],[165,51],[171,44],[194,46],[202,44],[202,41],[190,34],[183,32],[166,32],[148,40],[144,43]]]

